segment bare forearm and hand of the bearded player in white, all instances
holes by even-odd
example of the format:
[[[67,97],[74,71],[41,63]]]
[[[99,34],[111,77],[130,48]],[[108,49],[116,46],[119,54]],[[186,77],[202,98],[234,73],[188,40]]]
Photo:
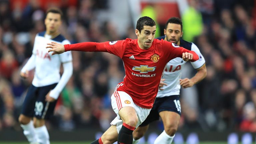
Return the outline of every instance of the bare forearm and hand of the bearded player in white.
[[[205,64],[196,70],[197,70],[197,73],[191,79],[189,78],[180,79],[180,85],[183,88],[192,87],[194,84],[197,84],[198,82],[200,82],[202,79],[206,77],[207,70],[206,70]]]

